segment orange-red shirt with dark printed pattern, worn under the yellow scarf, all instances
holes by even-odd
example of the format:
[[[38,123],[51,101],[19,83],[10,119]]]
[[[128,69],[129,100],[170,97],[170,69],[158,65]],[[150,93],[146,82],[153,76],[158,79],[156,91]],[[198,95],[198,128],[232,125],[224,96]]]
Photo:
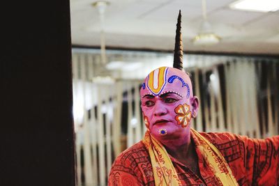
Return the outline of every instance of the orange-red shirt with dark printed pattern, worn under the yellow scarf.
[[[231,133],[199,132],[225,157],[239,185],[279,185],[279,136],[250,139]],[[196,145],[198,140],[191,135]],[[196,149],[202,178],[169,155],[182,185],[221,185]],[[155,185],[149,152],[142,141],[123,151],[110,171],[108,185]]]

